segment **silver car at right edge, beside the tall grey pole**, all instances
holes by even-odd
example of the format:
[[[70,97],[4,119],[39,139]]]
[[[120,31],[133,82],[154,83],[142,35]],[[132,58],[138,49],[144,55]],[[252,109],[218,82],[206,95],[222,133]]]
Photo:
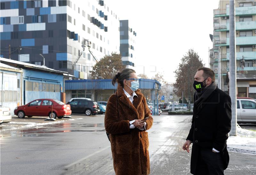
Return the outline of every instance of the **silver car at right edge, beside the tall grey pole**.
[[[256,123],[256,102],[252,98],[237,97],[237,123]]]

